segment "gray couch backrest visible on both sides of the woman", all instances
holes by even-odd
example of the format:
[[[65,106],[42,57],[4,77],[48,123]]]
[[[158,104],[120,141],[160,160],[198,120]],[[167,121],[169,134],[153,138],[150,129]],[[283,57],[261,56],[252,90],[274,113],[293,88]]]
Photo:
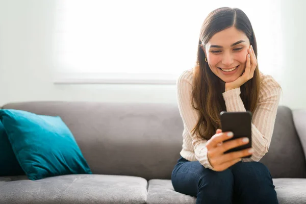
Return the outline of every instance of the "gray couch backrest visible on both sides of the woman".
[[[170,179],[182,149],[183,122],[176,104],[26,102],[4,106],[60,116],[93,173]],[[279,107],[268,154],[273,177],[306,177],[291,110]]]

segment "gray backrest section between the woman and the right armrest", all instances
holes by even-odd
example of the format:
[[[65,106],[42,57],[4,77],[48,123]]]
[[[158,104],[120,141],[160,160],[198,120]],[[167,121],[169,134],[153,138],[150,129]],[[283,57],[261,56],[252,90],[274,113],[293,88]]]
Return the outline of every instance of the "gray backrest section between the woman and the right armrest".
[[[268,167],[273,178],[306,178],[303,148],[289,108],[278,107],[270,148],[260,162]]]

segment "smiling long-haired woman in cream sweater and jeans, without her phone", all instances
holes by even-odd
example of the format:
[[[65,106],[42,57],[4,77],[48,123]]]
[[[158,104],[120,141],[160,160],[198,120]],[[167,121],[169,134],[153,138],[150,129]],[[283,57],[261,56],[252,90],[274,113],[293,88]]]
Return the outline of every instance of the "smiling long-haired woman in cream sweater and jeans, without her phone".
[[[237,8],[219,8],[202,24],[195,67],[177,80],[183,148],[171,180],[175,191],[197,197],[197,204],[278,203],[271,174],[259,160],[270,146],[281,87],[259,71],[256,58],[248,17]],[[249,141],[223,143],[233,133],[220,130],[219,114],[246,110],[253,115],[252,148],[224,154]]]

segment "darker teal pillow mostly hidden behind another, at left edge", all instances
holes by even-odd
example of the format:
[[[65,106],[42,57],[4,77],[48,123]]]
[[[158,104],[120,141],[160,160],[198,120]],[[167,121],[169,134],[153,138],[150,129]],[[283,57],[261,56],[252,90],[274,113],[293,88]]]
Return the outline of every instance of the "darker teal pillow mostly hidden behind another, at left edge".
[[[0,121],[0,176],[24,175]]]

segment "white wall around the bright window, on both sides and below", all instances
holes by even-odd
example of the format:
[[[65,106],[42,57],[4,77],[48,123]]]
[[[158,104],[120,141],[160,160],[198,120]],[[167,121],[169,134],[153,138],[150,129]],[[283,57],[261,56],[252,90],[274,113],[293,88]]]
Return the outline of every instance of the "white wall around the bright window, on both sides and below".
[[[176,103],[175,85],[54,85],[53,0],[0,0],[0,106],[14,101]],[[282,0],[286,59],[281,105],[306,108],[302,0]],[[268,31],[267,31],[268,32]]]

